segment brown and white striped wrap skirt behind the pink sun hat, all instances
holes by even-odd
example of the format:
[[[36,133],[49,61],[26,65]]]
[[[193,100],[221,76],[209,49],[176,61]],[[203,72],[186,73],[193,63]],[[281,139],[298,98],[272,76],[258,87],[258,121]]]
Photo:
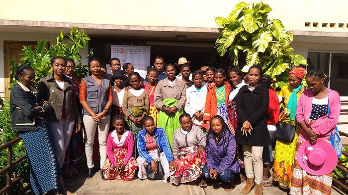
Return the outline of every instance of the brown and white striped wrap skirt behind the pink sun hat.
[[[332,173],[311,175],[298,163],[297,150],[301,144],[302,141],[297,140],[290,195],[331,195]]]

